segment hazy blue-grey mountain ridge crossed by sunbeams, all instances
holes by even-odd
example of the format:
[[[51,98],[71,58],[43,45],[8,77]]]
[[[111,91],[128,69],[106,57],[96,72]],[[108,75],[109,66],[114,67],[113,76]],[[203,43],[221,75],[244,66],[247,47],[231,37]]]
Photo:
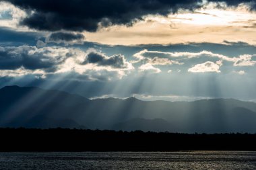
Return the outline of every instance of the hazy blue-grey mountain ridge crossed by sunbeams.
[[[236,99],[90,100],[63,91],[8,86],[0,89],[0,103],[1,127],[256,132],[256,103]]]

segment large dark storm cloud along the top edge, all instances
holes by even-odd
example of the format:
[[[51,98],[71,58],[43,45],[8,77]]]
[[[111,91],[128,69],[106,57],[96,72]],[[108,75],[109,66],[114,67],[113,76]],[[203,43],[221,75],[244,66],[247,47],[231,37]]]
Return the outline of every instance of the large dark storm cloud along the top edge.
[[[194,9],[201,0],[6,0],[29,15],[20,24],[36,30],[95,32],[98,24],[131,25],[143,15],[174,13],[179,8]],[[31,11],[34,13],[31,13]]]

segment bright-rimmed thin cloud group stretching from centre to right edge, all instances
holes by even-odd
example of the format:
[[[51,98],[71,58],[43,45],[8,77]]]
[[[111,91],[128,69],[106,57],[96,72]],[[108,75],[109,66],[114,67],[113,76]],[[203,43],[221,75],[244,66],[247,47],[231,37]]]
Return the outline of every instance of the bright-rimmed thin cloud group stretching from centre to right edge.
[[[191,73],[216,72],[220,73],[223,66],[251,67],[256,64],[255,55],[225,56],[203,50],[201,52],[161,52],[141,50],[133,55],[137,60],[148,65],[166,66],[168,69],[183,69]]]

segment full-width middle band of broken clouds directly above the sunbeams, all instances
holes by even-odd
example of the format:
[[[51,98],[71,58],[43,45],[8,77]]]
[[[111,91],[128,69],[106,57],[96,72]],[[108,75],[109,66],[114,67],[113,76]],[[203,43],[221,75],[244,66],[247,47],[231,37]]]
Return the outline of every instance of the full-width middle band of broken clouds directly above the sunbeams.
[[[0,46],[0,76],[20,77],[75,73],[77,77],[91,80],[121,79],[131,71],[169,75],[189,73],[245,73],[239,68],[253,67],[255,55],[226,56],[210,51],[161,52],[141,50],[133,54],[135,60],[127,60],[123,54],[106,55],[94,48],[84,51],[61,46]],[[134,65],[134,66],[133,66]],[[105,78],[104,78],[104,76]],[[72,77],[67,77],[72,78]],[[87,79],[87,78],[83,78]]]

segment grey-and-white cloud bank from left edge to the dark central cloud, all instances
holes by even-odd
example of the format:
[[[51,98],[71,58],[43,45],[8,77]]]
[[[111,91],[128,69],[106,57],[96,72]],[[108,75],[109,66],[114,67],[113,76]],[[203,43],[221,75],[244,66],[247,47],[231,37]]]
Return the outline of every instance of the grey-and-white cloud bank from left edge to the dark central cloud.
[[[76,73],[96,79],[104,73],[108,79],[113,75],[121,78],[126,71],[132,69],[133,66],[127,62],[125,56],[106,56],[94,49],[84,52],[77,48],[64,47],[0,46],[1,77],[38,74],[45,77],[60,73]]]

